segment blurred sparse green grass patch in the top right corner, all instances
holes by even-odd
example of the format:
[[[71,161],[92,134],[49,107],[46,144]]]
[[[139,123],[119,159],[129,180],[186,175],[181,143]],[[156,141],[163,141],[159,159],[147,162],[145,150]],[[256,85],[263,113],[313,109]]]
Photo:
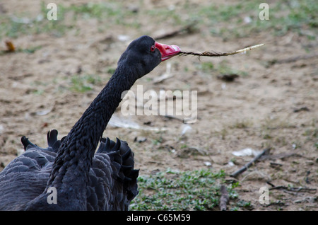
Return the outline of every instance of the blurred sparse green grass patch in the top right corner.
[[[248,37],[252,33],[285,35],[288,31],[314,40],[318,27],[318,4],[314,0],[276,1],[269,3],[269,20],[261,20],[261,2],[237,1],[236,4],[210,4],[199,7],[192,16],[209,25],[211,35],[225,40]],[[199,18],[197,15],[200,15]],[[246,20],[247,19],[247,20]],[[247,22],[248,21],[248,22]],[[307,33],[303,30],[312,30]]]

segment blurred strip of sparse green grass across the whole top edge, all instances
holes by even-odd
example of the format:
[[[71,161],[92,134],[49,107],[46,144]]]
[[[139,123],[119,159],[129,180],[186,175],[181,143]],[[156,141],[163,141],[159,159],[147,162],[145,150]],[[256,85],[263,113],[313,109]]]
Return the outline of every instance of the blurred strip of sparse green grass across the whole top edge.
[[[218,35],[225,40],[237,37],[248,37],[252,33],[285,35],[288,31],[307,35],[310,40],[316,39],[318,27],[318,4],[314,0],[275,1],[269,3],[269,20],[259,19],[260,1],[237,1],[227,4],[193,4],[187,1],[169,8],[143,8],[142,1],[136,4],[136,10],[126,7],[122,1],[105,1],[65,6],[57,5],[57,21],[47,20],[47,3],[42,1],[39,15],[20,13],[0,15],[0,39],[3,37],[18,37],[35,33],[51,33],[64,35],[76,25],[78,20],[98,19],[98,29],[104,32],[113,25],[141,28],[144,21],[141,13],[154,19],[165,21],[169,25],[186,25],[195,21],[196,25],[204,26],[211,35]],[[185,16],[187,15],[187,16]],[[13,19],[18,18],[18,20]],[[27,18],[28,23],[18,22]],[[68,21],[66,21],[66,18]],[[249,18],[246,21],[246,18]],[[107,21],[105,23],[105,21]],[[310,30],[310,32],[307,32]]]

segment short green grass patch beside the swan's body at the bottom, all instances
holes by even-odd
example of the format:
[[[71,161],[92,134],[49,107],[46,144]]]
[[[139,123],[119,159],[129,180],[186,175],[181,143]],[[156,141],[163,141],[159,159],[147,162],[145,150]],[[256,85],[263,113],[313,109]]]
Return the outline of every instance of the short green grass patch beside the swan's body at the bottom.
[[[131,210],[213,210],[220,201],[220,185],[225,173],[210,170],[176,172],[167,170],[140,176],[139,195],[131,202]],[[228,185],[230,200],[237,198]]]

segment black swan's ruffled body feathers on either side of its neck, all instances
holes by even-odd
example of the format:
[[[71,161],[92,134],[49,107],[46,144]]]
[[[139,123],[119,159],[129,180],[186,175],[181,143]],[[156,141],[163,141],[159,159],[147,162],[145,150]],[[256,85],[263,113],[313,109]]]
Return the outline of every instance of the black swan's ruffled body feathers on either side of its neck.
[[[52,132],[54,131],[54,132]],[[54,144],[60,143],[57,140],[57,131],[52,130],[47,134],[46,149],[30,142],[24,137],[23,145],[27,149],[21,156],[11,161],[11,163],[1,171],[0,176],[0,209],[1,210],[14,210],[17,204],[23,205],[32,200],[34,196],[40,195],[45,188],[45,182],[42,185],[39,180],[47,180],[49,173],[52,170],[52,164],[54,163],[55,156],[57,155],[57,149],[54,148]],[[127,157],[127,152],[131,156],[131,149],[126,145],[126,142],[122,142],[117,139],[119,144],[113,142],[110,139],[100,139],[100,147],[98,152],[93,157],[92,167],[89,173],[89,182],[87,187],[87,209],[88,210],[128,210],[129,202],[132,198],[138,194],[137,186],[129,185],[131,178],[136,179],[136,170],[133,165],[119,164],[118,161],[123,161],[122,157]],[[122,144],[124,143],[124,144]],[[124,146],[121,148],[121,146]],[[119,158],[121,158],[119,160]],[[117,161],[114,161],[116,159]],[[129,172],[129,177],[125,177]],[[32,176],[25,182],[25,177]],[[131,177],[131,174],[135,174]],[[37,177],[35,179],[35,176]],[[120,179],[120,178],[124,179]],[[122,183],[124,180],[124,183]],[[129,183],[128,183],[129,182]],[[12,185],[8,185],[11,183]],[[25,184],[28,183],[30,187],[30,195],[23,195]],[[118,187],[121,187],[118,190]],[[106,190],[105,190],[106,189]],[[11,198],[7,198],[6,193],[11,192],[11,195],[15,195],[16,198],[13,201]],[[122,193],[122,195],[119,195]],[[131,195],[133,193],[133,195]],[[114,195],[110,198],[108,195]],[[111,200],[111,201],[110,201]],[[4,204],[6,203],[6,204]],[[16,204],[15,204],[16,203]]]

